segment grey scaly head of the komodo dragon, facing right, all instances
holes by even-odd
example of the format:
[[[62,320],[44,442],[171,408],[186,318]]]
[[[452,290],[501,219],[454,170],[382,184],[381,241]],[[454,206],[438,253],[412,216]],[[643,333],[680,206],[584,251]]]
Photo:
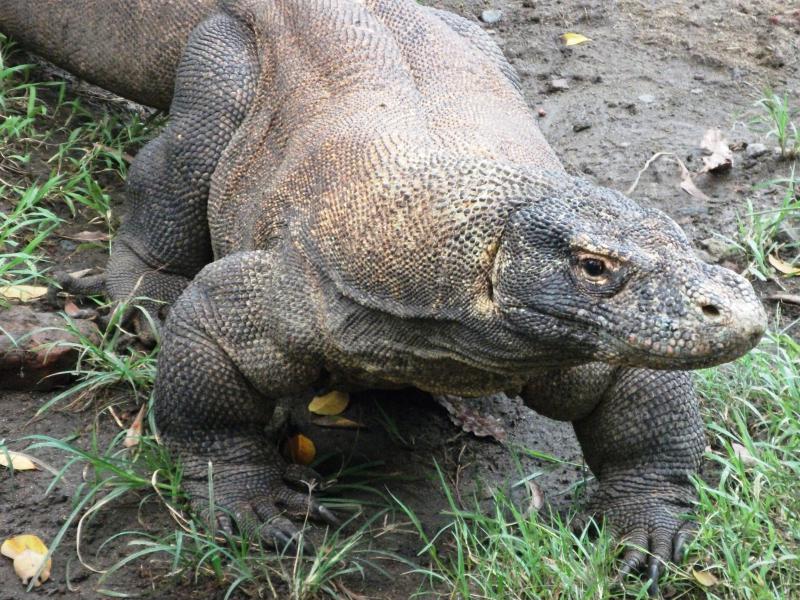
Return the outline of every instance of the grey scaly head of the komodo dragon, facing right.
[[[664,369],[758,343],[766,316],[750,283],[699,260],[667,215],[577,179],[538,195],[509,215],[491,275],[518,334],[562,359]]]

